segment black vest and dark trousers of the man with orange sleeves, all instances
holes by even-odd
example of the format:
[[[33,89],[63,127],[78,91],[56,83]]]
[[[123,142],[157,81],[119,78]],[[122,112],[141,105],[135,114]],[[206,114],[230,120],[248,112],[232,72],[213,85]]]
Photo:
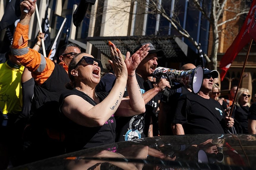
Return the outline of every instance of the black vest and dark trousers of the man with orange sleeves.
[[[34,86],[29,126],[23,132],[24,139],[29,141],[26,142],[28,147],[24,156],[28,162],[64,154],[59,97],[67,90],[65,85],[70,80],[66,70],[61,65],[54,64],[48,79],[42,85],[35,83]]]

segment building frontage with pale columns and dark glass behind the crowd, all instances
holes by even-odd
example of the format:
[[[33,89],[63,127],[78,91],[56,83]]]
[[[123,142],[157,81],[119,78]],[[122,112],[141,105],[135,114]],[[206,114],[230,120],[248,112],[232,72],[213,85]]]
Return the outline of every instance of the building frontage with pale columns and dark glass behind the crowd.
[[[110,59],[107,46],[108,40],[113,41],[124,54],[126,51],[132,52],[139,43],[152,42],[156,48],[162,48],[165,51],[165,56],[159,60],[159,66],[162,67],[179,69],[181,65],[187,62],[195,65],[200,64],[198,50],[191,41],[184,38],[171,25],[168,18],[175,18],[176,25],[186,30],[193,40],[201,44],[203,52],[211,57],[213,38],[210,23],[203,17],[202,12],[196,10],[193,1],[96,0],[94,5],[89,5],[80,26],[75,27],[72,23],[72,14],[79,2],[80,0],[50,1],[48,8],[48,14],[50,14],[50,37],[51,39],[55,37],[64,18],[67,18],[61,33],[62,41],[60,46],[65,43],[64,39],[68,36],[69,42],[78,44],[83,48],[83,51],[100,59],[103,67]],[[242,1],[239,2],[242,3]],[[4,0],[0,0],[0,9],[4,9],[7,3]],[[231,3],[231,1],[228,3]],[[230,5],[228,3],[226,7]],[[249,6],[251,2],[246,1],[246,3]],[[40,22],[45,16],[46,4],[47,0],[37,0]],[[206,7],[206,12],[210,12],[211,0],[203,1],[201,5]],[[0,19],[4,14],[3,11],[0,10]],[[159,11],[161,14],[159,14]],[[222,20],[231,17],[229,15],[232,14],[223,13]],[[240,19],[232,22],[232,34],[228,29],[224,29],[219,34],[218,61],[220,61],[227,48],[233,42],[243,24],[243,20],[244,18],[240,17]],[[30,24],[30,45],[33,44],[37,32],[37,18],[34,17]],[[1,41],[3,41],[4,33],[4,30],[2,30]],[[254,47],[255,44],[253,44],[252,49]],[[248,88],[252,93],[256,93],[256,72],[254,68],[256,60],[254,52],[256,51],[252,50],[252,56],[249,57],[249,61],[246,64],[246,73],[241,85],[241,87]],[[245,54],[246,47],[231,65],[225,80],[221,83],[222,90],[228,91],[233,84],[238,82]],[[103,71],[105,70],[103,69]]]

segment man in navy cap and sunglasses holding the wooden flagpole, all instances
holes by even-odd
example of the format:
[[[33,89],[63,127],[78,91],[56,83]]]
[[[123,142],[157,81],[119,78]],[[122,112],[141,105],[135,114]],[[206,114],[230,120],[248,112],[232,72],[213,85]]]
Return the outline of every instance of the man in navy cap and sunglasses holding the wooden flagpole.
[[[234,119],[227,117],[219,102],[209,97],[218,75],[216,70],[204,69],[199,93],[187,93],[179,98],[172,120],[174,135],[223,134],[226,128],[233,127]]]

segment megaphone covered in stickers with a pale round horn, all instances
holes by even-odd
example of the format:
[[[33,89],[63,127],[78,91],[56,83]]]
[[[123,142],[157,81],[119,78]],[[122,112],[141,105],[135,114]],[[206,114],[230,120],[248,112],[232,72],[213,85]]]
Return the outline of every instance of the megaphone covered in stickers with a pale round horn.
[[[197,66],[190,70],[175,70],[165,67],[157,67],[153,72],[153,77],[160,79],[165,78],[170,83],[172,81],[183,84],[190,88],[193,93],[197,94],[203,84],[203,67]]]

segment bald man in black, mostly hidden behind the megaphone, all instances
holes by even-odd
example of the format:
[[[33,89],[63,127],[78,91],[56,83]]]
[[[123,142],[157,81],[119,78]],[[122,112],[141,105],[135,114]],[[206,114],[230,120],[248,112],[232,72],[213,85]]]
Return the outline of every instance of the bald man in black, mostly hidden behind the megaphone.
[[[187,69],[194,69],[196,68],[194,64],[187,63],[181,66],[181,70]],[[187,89],[186,87],[181,87],[178,89],[170,90],[168,101],[161,101],[159,106],[159,113],[158,113],[158,126],[160,135],[173,135],[171,129],[171,122],[172,116],[175,112],[178,98],[182,94],[190,93],[191,90]]]

